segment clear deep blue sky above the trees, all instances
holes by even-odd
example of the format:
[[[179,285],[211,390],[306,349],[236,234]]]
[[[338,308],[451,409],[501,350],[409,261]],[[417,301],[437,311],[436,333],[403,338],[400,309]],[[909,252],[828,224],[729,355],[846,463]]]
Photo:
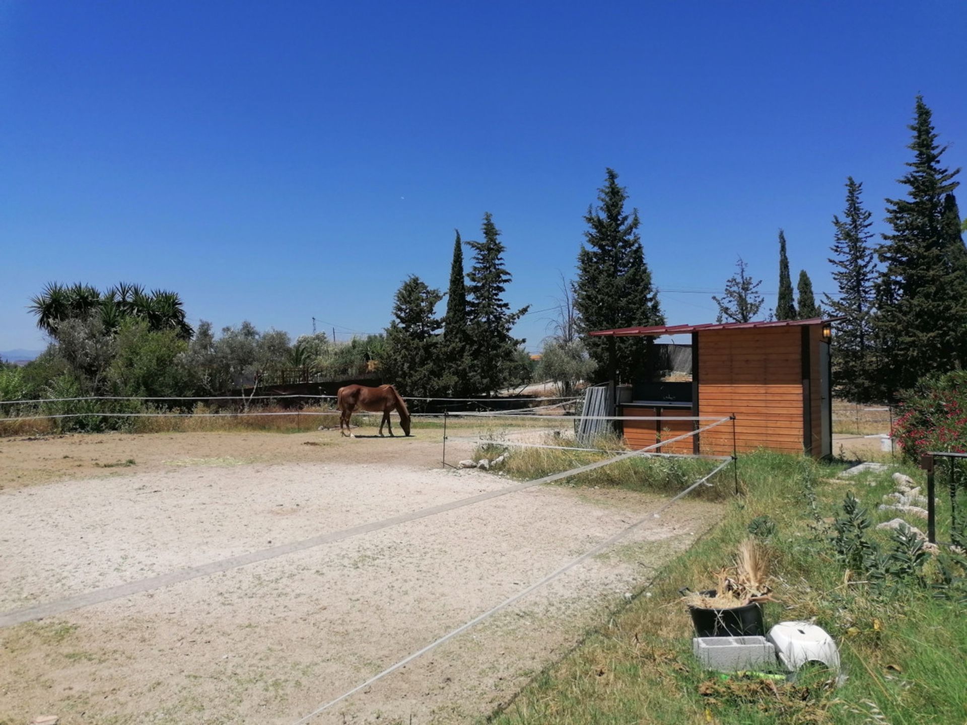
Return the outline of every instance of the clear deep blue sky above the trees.
[[[775,291],[779,227],[794,279],[832,290],[845,178],[882,231],[917,93],[967,164],[965,29],[962,2],[3,0],[0,349],[43,347],[48,280],[379,331],[406,275],[446,287],[485,211],[509,301],[541,310],[606,166],[670,323],[713,320],[739,254]]]

